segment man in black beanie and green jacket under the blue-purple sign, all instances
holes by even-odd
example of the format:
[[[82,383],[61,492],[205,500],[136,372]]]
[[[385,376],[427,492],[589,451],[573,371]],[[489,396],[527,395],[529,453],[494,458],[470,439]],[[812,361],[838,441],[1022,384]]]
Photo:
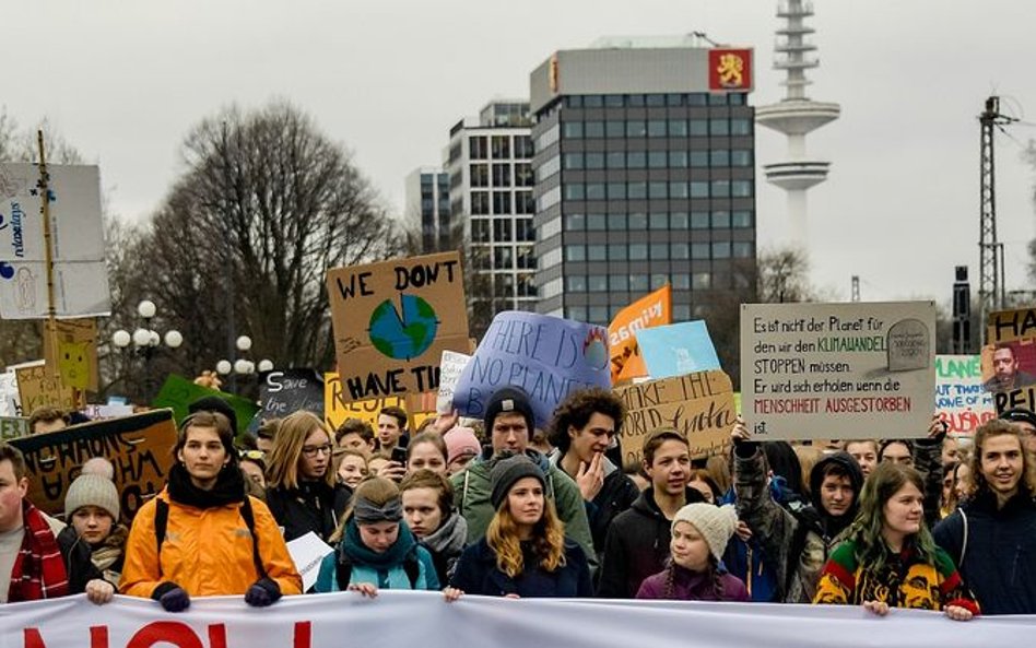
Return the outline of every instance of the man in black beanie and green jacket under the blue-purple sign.
[[[463,472],[450,478],[457,509],[468,521],[468,544],[474,544],[485,535],[490,520],[496,512],[491,500],[490,472],[493,466],[503,458],[523,455],[544,474],[545,495],[554,502],[557,517],[565,525],[565,533],[579,544],[591,568],[596,568],[597,556],[579,486],[565,471],[551,466],[544,455],[529,447],[529,439],[535,428],[535,415],[529,397],[514,387],[496,390],[486,403],[484,421],[491,447],[472,460]]]

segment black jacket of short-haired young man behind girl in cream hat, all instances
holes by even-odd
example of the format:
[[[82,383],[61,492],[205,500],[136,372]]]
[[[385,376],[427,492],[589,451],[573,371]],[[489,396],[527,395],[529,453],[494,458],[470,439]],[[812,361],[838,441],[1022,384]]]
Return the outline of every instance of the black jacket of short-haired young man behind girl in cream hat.
[[[687,504],[703,500],[699,492],[687,488]],[[634,598],[645,578],[666,567],[670,540],[672,520],[656,504],[655,491],[649,486],[628,510],[619,514],[608,530],[597,596]]]

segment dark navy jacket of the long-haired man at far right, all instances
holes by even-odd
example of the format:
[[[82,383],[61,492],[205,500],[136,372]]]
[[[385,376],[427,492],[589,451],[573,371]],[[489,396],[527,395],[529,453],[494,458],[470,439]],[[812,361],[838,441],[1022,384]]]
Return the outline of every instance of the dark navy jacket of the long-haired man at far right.
[[[997,496],[984,487],[961,508],[963,515],[954,511],[932,534],[960,565],[982,613],[1036,614],[1036,504],[1032,497],[1023,491],[998,508]]]

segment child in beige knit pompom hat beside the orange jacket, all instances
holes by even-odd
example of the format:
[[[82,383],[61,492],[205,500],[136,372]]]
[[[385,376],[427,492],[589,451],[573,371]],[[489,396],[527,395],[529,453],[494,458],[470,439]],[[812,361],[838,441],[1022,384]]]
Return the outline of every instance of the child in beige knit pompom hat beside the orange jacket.
[[[64,494],[66,540],[90,546],[91,561],[105,580],[119,586],[129,529],[119,523],[119,491],[99,474],[81,474]]]

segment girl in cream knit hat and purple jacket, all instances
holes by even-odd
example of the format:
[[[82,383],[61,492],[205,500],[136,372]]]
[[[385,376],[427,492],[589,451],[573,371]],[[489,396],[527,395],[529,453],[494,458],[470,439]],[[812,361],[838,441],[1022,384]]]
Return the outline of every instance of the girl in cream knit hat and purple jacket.
[[[747,602],[744,584],[719,563],[737,528],[738,514],[731,505],[696,503],[681,508],[673,518],[669,565],[644,579],[637,598]]]

